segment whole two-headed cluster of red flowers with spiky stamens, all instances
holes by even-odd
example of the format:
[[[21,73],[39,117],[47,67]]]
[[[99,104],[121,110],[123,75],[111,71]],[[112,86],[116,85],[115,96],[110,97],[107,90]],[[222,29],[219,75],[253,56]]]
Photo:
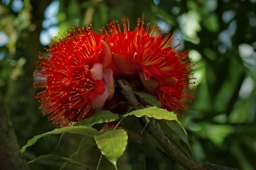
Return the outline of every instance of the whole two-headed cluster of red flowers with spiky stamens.
[[[73,28],[40,53],[35,87],[45,88],[36,98],[56,126],[78,122],[104,107],[114,95],[117,79],[139,80],[137,90],[158,96],[162,108],[178,115],[193,99],[193,63],[177,50],[177,39],[163,37],[157,25],[138,19],[110,22],[101,34],[92,27]]]

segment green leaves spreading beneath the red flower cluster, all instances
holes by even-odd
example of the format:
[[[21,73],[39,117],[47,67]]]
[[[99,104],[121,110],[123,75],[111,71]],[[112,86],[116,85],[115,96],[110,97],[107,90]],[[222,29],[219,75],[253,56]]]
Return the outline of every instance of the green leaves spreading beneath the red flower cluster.
[[[117,169],[117,160],[123,155],[123,152],[125,151],[127,146],[128,136],[126,131],[130,131],[130,133],[132,133],[132,131],[129,129],[115,130],[116,128],[118,128],[118,124],[115,125],[115,128],[113,130],[110,125],[106,124],[106,128],[101,129],[101,131],[97,131],[96,129],[90,128],[88,126],[88,125],[94,125],[94,124],[102,124],[101,120],[105,120],[104,122],[113,122],[112,118],[108,119],[109,117],[112,117],[113,114],[114,113],[111,113],[111,112],[101,111],[94,114],[94,116],[92,116],[90,119],[88,118],[87,121],[80,121],[74,126],[66,126],[64,128],[55,129],[44,134],[36,135],[32,139],[30,139],[25,146],[22,147],[20,152],[23,153],[27,147],[34,145],[40,138],[45,137],[46,135],[49,135],[49,134],[61,134],[61,133],[62,134],[64,133],[80,134],[85,137],[94,139],[94,142],[97,144],[98,148],[101,150],[102,155],[106,156],[106,159],[108,159],[109,162],[111,162],[114,165],[115,169]],[[180,124],[179,120],[177,120],[177,116],[175,113],[171,113],[164,109],[159,109],[156,107],[138,109],[138,110],[129,112],[127,114],[124,114],[123,118],[131,115],[134,115],[136,117],[148,116],[148,117],[154,117],[156,119],[162,119],[162,120],[173,120]],[[100,121],[97,120],[97,118],[99,117],[101,117]],[[119,120],[119,122],[121,121],[122,119]],[[105,129],[109,129],[109,128],[110,130],[105,131]],[[176,130],[177,129],[179,128],[176,128]],[[170,130],[171,129],[167,129],[167,131],[170,131]],[[177,133],[177,134],[178,136],[180,136],[180,138],[183,138],[184,140],[183,133]],[[175,140],[175,142],[179,142],[179,141]],[[93,146],[92,143],[86,143],[86,145],[88,145],[89,147]],[[188,143],[187,145],[189,146]],[[183,148],[182,145],[180,145],[180,147]],[[58,156],[54,154],[41,155],[38,158],[35,158],[34,160],[31,160],[28,163],[38,162],[39,160],[42,160],[42,159],[62,160],[64,162],[72,163],[72,164],[79,165],[81,167],[86,168],[85,165],[77,162],[76,160],[73,160],[72,158],[65,158],[63,156]]]

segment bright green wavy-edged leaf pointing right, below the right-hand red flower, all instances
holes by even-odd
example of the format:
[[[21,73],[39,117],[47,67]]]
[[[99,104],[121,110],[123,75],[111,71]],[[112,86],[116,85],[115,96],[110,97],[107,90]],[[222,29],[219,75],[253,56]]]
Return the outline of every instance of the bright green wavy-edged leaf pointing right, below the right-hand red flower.
[[[169,112],[166,109],[160,109],[157,107],[148,107],[144,109],[139,109],[135,111],[131,111],[129,113],[124,114],[123,116],[131,116],[134,115],[136,117],[142,117],[142,116],[147,116],[147,117],[154,117],[156,119],[164,119],[164,120],[173,120],[176,121],[183,131],[186,133],[185,129],[183,128],[181,122],[178,120],[177,115],[174,112]]]

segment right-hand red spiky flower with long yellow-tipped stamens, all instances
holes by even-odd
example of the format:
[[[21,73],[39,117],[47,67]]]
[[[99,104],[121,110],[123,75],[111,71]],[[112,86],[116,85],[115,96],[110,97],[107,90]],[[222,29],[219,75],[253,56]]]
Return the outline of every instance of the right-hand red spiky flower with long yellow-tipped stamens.
[[[123,75],[139,75],[147,91],[157,95],[162,108],[182,114],[193,99],[191,67],[187,52],[177,50],[177,39],[170,34],[162,37],[156,24],[150,27],[138,19],[137,27],[130,31],[129,20],[111,22],[102,35],[112,52],[113,70]]]

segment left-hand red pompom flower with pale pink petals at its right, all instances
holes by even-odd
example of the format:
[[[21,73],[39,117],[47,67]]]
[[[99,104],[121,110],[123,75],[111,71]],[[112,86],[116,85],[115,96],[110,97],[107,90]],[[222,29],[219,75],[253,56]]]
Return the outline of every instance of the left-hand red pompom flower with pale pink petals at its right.
[[[73,28],[40,53],[35,87],[44,115],[54,125],[67,126],[101,109],[114,93],[110,49],[104,36],[90,27]]]

